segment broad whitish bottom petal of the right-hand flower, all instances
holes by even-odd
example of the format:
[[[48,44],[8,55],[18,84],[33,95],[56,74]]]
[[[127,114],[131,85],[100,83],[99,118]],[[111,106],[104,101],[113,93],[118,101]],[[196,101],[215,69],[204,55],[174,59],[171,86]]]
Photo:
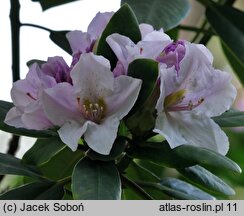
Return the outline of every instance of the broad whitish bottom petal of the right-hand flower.
[[[188,144],[225,155],[229,147],[228,137],[212,119],[191,112],[159,113],[154,132],[164,136],[171,148]]]

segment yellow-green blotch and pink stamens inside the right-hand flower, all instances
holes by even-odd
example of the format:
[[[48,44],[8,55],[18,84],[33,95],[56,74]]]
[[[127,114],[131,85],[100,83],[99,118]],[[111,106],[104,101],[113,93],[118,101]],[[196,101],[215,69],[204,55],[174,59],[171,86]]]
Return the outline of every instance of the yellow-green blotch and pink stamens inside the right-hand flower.
[[[165,97],[164,108],[165,110],[172,111],[191,111],[203,103],[204,98],[199,98],[198,100],[184,100],[186,90],[180,89],[173,92]]]

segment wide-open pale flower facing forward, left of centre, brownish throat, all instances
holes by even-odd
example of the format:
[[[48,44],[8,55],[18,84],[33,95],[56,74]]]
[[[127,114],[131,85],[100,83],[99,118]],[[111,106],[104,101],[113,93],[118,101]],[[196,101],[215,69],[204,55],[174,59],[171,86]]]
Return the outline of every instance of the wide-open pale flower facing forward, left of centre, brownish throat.
[[[82,136],[94,151],[107,155],[117,136],[120,120],[133,107],[141,80],[114,78],[102,56],[85,53],[71,71],[73,86],[59,83],[46,89],[42,102],[52,124],[60,126],[61,140],[73,151]]]

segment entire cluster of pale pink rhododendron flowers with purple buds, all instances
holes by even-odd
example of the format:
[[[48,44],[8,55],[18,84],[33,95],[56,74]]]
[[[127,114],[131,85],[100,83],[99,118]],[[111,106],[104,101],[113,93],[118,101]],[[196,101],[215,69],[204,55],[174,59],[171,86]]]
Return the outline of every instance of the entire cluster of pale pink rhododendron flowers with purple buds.
[[[73,51],[70,66],[62,57],[33,64],[26,78],[13,85],[15,107],[5,123],[36,130],[58,127],[61,140],[73,151],[84,137],[91,149],[108,155],[120,120],[134,106],[142,86],[140,79],[128,75],[128,67],[146,58],[158,62],[159,70],[153,132],[172,148],[189,144],[226,154],[228,138],[211,117],[228,110],[235,99],[231,76],[213,68],[205,46],[174,42],[148,24],[139,26],[138,43],[118,33],[106,38],[117,57],[111,69],[109,60],[94,54],[94,47],[112,16],[98,13],[87,32],[67,34]]]

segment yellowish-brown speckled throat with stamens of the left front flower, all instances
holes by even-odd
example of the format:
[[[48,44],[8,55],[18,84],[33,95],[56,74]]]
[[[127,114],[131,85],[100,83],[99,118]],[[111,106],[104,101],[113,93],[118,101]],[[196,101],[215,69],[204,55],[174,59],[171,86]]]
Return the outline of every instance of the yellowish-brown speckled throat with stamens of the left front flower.
[[[105,117],[106,104],[102,98],[99,98],[95,102],[91,102],[89,99],[80,100],[77,97],[78,108],[81,111],[83,117],[87,120],[100,124]]]

